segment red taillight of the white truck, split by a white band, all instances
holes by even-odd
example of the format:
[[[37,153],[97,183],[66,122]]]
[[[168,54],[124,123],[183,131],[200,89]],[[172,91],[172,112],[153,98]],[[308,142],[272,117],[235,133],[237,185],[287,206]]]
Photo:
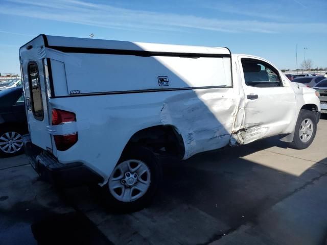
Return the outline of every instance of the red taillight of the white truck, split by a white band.
[[[75,113],[59,109],[52,109],[52,125],[60,125],[72,121],[76,121]],[[54,135],[53,137],[58,151],[68,150],[78,140],[77,132],[73,134]]]

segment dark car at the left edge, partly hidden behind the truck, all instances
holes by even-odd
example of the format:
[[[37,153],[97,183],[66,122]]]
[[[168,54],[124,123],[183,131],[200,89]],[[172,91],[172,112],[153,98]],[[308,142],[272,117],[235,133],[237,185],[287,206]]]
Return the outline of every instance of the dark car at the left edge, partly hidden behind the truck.
[[[22,153],[22,135],[27,132],[22,88],[0,91],[0,155],[7,157]]]

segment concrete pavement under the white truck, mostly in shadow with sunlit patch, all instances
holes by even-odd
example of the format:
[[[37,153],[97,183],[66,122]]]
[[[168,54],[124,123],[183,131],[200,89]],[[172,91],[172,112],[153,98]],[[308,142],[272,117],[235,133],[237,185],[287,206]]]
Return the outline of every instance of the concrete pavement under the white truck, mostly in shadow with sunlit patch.
[[[0,240],[50,244],[46,237],[65,234],[80,244],[323,244],[326,145],[324,118],[306,150],[274,137],[164,162],[161,191],[132,214],[112,213],[87,187],[62,191],[39,181],[24,156],[0,159]],[[67,223],[75,229],[60,229]]]

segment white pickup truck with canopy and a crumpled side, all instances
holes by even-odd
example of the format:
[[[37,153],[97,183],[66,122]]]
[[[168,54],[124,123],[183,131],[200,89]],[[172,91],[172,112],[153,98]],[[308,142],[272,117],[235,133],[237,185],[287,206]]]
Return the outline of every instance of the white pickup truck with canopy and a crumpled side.
[[[315,90],[226,47],[41,34],[19,56],[33,167],[60,185],[96,183],[122,210],[153,198],[160,154],[188,159],[274,135],[304,149],[316,134]]]

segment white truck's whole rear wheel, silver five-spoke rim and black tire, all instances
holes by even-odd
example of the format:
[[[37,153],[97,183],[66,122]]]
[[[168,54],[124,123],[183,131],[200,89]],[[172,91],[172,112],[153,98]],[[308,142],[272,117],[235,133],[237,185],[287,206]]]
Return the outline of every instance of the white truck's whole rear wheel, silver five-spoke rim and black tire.
[[[161,167],[149,149],[134,147],[113,169],[103,193],[116,211],[132,212],[146,207],[161,180]]]

